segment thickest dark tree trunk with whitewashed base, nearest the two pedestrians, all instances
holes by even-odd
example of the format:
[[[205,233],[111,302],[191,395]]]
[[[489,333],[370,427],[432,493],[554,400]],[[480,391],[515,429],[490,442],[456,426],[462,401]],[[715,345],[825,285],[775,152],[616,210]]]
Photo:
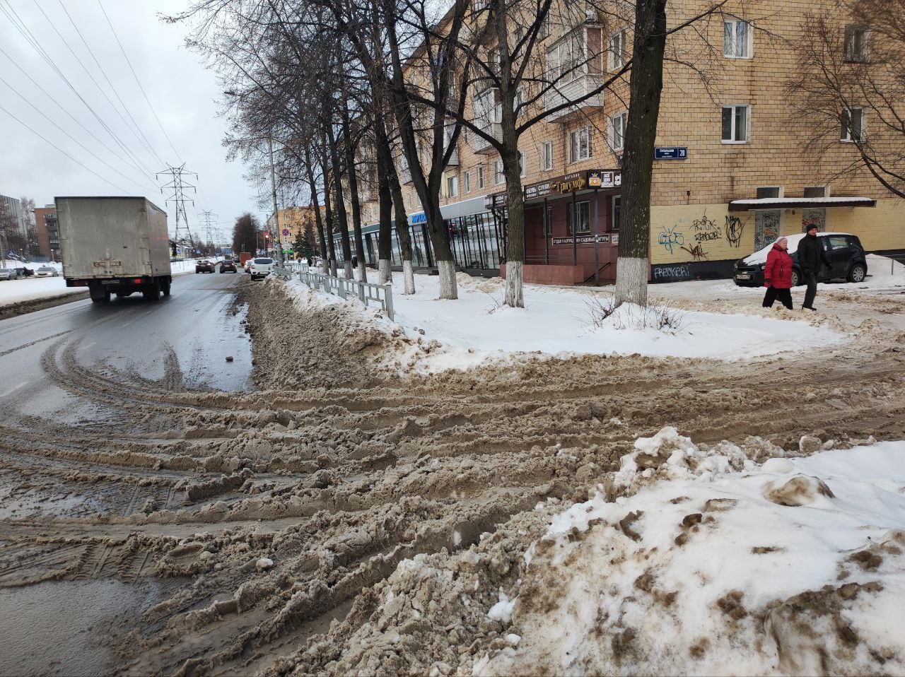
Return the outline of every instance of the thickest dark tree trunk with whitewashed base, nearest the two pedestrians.
[[[617,304],[627,301],[647,305],[653,145],[660,117],[665,48],[666,0],[637,0],[616,262]]]

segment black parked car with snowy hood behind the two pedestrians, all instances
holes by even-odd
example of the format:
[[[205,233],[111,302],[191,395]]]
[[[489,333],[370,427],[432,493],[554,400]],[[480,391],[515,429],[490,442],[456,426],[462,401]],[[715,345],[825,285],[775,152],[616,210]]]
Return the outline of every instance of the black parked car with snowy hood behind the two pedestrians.
[[[802,283],[801,269],[798,267],[798,243],[805,237],[804,233],[786,235],[789,241],[788,252],[792,256],[792,286]],[[824,251],[833,262],[831,268],[823,267],[819,281],[847,280],[850,282],[862,282],[867,277],[867,259],[864,256],[864,248],[861,240],[856,235],[849,233],[819,233],[817,238],[824,247]],[[739,287],[760,287],[764,284],[764,266],[767,263],[767,253],[773,247],[773,243],[767,244],[761,250],[749,254],[744,259],[739,259],[735,264],[735,273],[732,279]]]

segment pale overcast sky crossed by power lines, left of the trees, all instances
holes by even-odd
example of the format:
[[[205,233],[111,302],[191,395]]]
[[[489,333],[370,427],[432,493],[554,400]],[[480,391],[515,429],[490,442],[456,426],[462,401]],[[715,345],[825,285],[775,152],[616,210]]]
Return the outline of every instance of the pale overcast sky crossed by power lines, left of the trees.
[[[186,205],[193,232],[197,229],[201,234],[202,229],[197,228],[199,213],[205,209],[216,213],[217,227],[227,237],[233,220],[244,211],[264,216],[255,205],[254,186],[243,179],[241,163],[225,161],[221,146],[224,120],[216,115],[220,91],[214,72],[206,70],[199,56],[183,46],[185,26],[163,24],[157,16],[174,14],[187,4],[188,0],[0,0],[0,107],[8,111],[0,110],[0,194],[32,197],[38,206],[51,203],[55,195],[143,195],[165,207],[165,195],[161,195],[154,176],[164,168],[162,160],[172,165],[184,162],[186,169],[198,174],[196,181],[195,176],[187,177],[189,183],[198,186],[197,194],[188,194],[195,205]],[[173,148],[129,70],[101,6]],[[10,23],[7,14],[21,20],[103,124]],[[120,106],[117,95],[128,112]],[[129,115],[138,129],[132,126]],[[166,208],[172,232],[175,212],[173,205]]]

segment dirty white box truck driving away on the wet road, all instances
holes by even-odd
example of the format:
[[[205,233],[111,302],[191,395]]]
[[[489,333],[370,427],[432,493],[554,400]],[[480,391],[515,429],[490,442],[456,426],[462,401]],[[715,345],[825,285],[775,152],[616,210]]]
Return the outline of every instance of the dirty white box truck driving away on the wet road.
[[[140,291],[169,296],[167,213],[144,197],[57,197],[62,275],[95,303]]]

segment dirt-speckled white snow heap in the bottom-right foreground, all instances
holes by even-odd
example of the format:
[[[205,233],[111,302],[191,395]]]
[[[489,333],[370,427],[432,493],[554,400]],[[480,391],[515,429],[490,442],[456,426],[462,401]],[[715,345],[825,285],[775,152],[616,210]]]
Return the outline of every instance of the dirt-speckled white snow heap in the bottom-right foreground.
[[[674,428],[529,549],[480,674],[905,673],[905,443],[757,464]],[[502,600],[500,600],[502,601]]]

